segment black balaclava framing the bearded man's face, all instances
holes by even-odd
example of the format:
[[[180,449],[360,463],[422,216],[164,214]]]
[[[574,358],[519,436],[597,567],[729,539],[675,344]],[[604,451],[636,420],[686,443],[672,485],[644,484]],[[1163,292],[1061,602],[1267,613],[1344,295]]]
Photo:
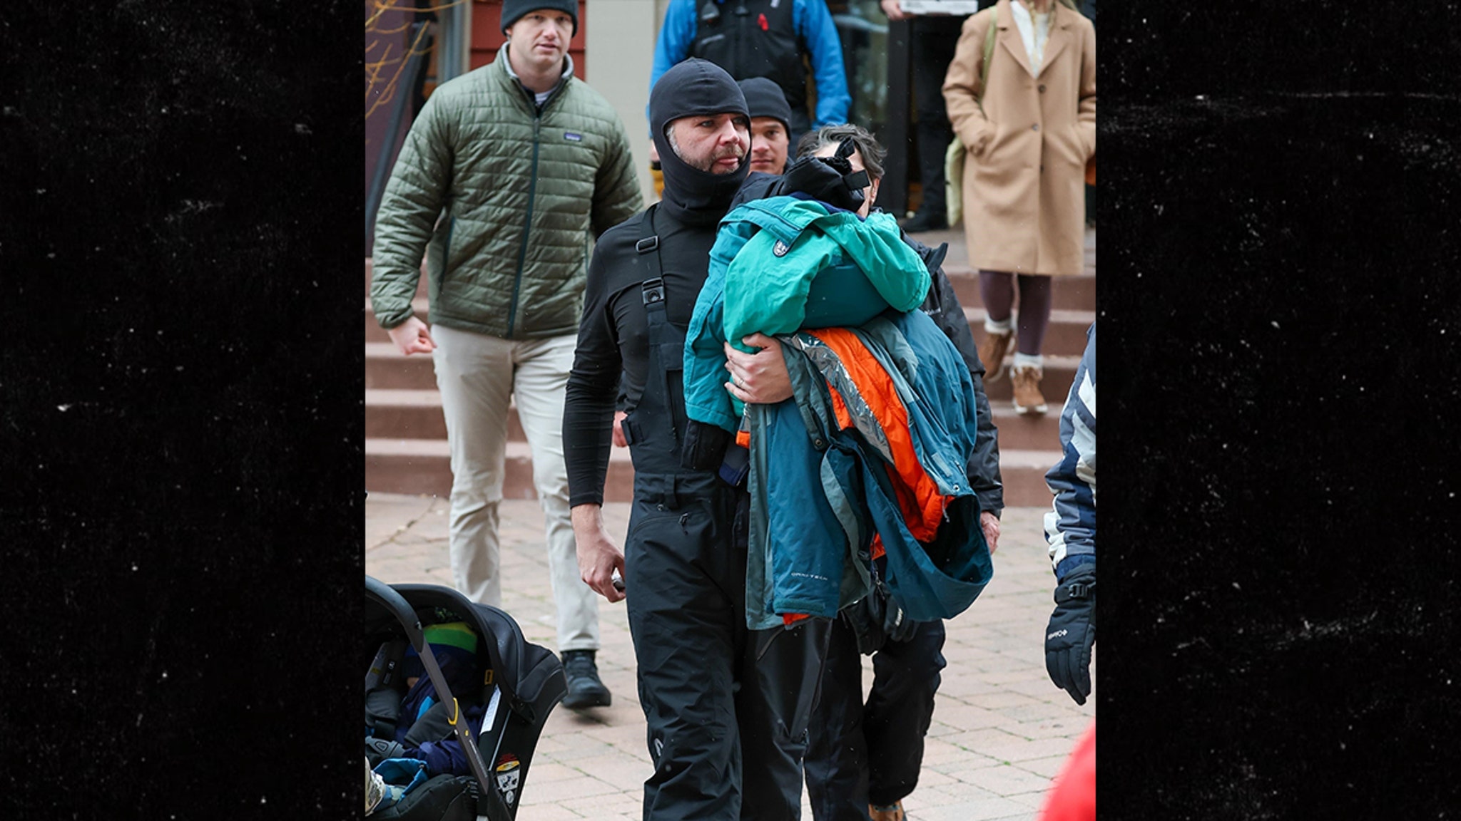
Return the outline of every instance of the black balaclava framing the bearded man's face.
[[[697,114],[741,114],[749,118],[745,95],[730,75],[709,60],[691,57],[660,75],[655,83],[649,95],[649,127],[665,174],[659,209],[688,225],[712,225],[726,215],[751,165],[742,158],[735,172],[712,174],[679,159],[669,148],[665,126]]]

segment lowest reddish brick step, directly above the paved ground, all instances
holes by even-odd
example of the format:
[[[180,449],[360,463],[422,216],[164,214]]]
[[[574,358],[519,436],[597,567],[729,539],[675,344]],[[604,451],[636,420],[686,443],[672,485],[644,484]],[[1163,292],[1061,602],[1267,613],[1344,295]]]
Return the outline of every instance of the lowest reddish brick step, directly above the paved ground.
[[[1059,460],[1059,451],[1011,450],[1001,453],[1007,507],[1049,507],[1045,472]],[[503,498],[538,498],[533,489],[532,456],[527,443],[507,443]],[[451,453],[444,440],[365,440],[365,489],[383,494],[451,495]],[[605,481],[606,501],[633,501],[634,465],[628,450],[609,456]]]

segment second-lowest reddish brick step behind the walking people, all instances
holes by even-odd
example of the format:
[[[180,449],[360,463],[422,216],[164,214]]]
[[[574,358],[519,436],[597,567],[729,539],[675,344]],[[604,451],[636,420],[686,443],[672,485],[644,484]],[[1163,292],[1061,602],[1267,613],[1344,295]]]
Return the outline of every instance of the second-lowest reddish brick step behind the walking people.
[[[1052,396],[1046,392],[1046,402]],[[1001,450],[1048,450],[1061,441],[1059,403],[1050,402],[1052,410],[1042,416],[1021,416],[1008,402],[992,400],[991,409],[995,428],[999,431]],[[446,440],[446,416],[441,413],[441,394],[435,390],[365,390],[365,437],[370,440]],[[527,441],[523,424],[517,418],[517,406],[507,409],[507,440]]]

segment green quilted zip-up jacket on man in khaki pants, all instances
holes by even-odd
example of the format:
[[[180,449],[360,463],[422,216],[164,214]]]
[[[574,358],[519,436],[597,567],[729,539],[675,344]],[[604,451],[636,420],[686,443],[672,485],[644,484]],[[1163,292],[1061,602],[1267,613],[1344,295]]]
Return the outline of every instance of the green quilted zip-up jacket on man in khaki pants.
[[[576,333],[593,238],[643,207],[624,123],[571,60],[542,111],[507,64],[443,83],[406,134],[375,218],[381,327],[411,318],[425,256],[428,323]]]

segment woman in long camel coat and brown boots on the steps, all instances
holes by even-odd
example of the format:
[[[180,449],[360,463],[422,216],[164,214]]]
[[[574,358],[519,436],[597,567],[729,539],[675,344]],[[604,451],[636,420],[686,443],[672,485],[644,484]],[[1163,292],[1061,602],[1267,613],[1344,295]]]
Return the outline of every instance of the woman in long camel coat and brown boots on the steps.
[[[979,75],[992,18],[998,34],[985,92]],[[1018,280],[1014,406],[1043,413],[1040,348],[1050,276],[1078,275],[1084,261],[1086,161],[1096,155],[1096,28],[1058,0],[999,0],[964,20],[944,101],[969,152],[964,234],[988,310],[979,351],[985,380],[999,378],[1015,340]]]

